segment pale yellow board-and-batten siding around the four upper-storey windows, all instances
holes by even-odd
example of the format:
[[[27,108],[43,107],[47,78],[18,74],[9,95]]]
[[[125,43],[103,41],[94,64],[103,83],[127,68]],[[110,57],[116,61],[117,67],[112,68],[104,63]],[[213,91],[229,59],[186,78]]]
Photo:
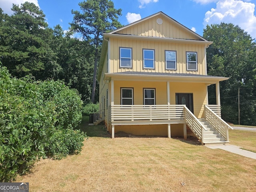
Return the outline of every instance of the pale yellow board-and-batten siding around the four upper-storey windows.
[[[205,46],[201,44],[170,43],[147,40],[128,40],[110,38],[110,73],[116,72],[160,72],[160,73],[187,73],[205,75]],[[120,47],[132,48],[132,68],[120,68]],[[143,49],[154,49],[155,68],[143,68]],[[165,50],[176,51],[177,70],[165,69]],[[186,52],[197,52],[198,70],[187,70]]]

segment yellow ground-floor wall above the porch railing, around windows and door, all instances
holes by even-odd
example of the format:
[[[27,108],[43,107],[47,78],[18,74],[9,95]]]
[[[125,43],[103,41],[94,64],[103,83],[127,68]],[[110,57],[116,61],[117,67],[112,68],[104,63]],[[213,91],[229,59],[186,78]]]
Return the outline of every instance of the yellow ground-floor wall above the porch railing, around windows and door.
[[[133,88],[134,105],[143,105],[143,88],[156,89],[156,105],[167,104],[167,82],[147,82],[118,80],[114,81],[114,104],[121,104],[121,88]],[[192,93],[194,115],[203,117],[204,105],[207,104],[206,85],[204,83],[170,82],[170,104],[176,104],[176,93]]]

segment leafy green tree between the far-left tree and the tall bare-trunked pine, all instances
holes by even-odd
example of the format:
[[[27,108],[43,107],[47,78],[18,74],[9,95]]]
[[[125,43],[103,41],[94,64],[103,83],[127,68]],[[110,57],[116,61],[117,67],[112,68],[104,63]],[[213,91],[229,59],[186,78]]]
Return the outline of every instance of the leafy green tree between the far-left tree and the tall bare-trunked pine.
[[[51,43],[57,54],[57,63],[61,70],[58,78],[64,80],[70,88],[76,88],[87,102],[92,95],[92,73],[94,60],[94,47],[87,41],[64,36],[60,25],[54,27],[54,38]]]

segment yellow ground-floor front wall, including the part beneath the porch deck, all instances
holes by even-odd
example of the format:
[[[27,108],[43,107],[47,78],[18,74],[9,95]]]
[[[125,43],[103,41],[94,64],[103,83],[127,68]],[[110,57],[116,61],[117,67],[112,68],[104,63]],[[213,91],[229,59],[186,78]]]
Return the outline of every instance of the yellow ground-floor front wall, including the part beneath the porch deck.
[[[134,104],[143,104],[143,88],[156,88],[156,104],[167,103],[167,82],[146,81],[114,81],[114,104],[120,105],[121,88],[134,89]],[[170,104],[176,104],[176,93],[193,93],[194,114],[198,118],[203,117],[204,104],[207,102],[206,85],[204,83],[180,83],[170,82]],[[119,131],[134,135],[158,135],[167,136],[167,125],[122,125],[115,126],[115,133]],[[183,125],[171,125],[172,136],[183,136]]]

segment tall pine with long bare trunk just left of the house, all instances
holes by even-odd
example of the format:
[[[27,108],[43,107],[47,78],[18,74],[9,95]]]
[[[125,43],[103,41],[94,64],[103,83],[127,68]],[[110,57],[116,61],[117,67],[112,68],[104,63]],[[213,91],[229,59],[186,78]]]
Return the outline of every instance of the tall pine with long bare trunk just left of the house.
[[[98,59],[100,56],[100,46],[104,33],[110,32],[121,27],[118,22],[118,16],[121,14],[121,9],[115,9],[114,3],[111,0],[87,0],[80,2],[80,11],[72,10],[74,14],[73,22],[70,24],[71,30],[82,34],[91,45],[94,45],[94,73],[92,83],[92,97],[95,100],[96,92],[96,75]]]

